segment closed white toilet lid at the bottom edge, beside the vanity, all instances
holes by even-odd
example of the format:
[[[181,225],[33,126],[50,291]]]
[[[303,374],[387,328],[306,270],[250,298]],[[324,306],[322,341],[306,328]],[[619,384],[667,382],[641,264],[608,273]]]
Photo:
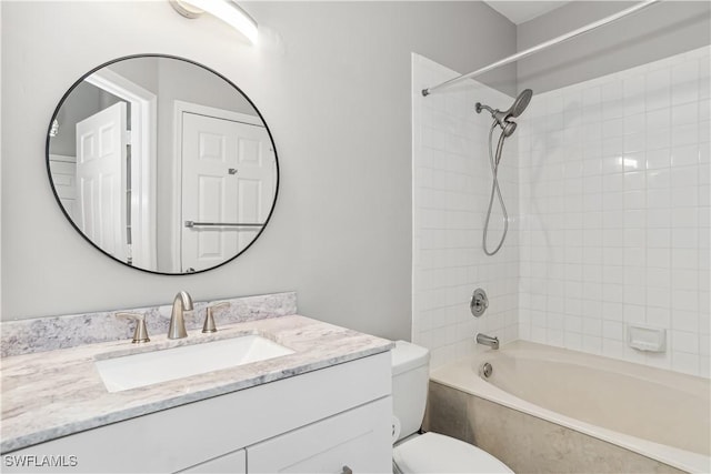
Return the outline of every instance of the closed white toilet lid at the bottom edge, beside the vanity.
[[[425,433],[393,447],[403,473],[513,473],[479,447],[438,433]]]

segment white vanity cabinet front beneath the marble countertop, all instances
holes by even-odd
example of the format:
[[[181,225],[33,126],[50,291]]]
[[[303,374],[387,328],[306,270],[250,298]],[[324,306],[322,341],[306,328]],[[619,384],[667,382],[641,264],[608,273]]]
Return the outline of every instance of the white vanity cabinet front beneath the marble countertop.
[[[76,465],[49,470],[71,473],[389,472],[391,417],[391,362],[383,352],[3,456],[73,456]],[[48,472],[7,461],[2,467]]]

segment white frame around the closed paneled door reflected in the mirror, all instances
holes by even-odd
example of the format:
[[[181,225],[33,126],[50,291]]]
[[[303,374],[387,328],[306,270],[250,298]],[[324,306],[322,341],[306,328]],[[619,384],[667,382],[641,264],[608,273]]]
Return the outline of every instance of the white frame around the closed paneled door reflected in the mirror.
[[[231,110],[217,109],[214,107],[201,105],[199,103],[186,102],[181,100],[174,101],[173,105],[173,183],[182,181],[182,117],[183,113],[194,113],[198,115],[212,117],[216,119],[231,120],[233,122],[248,123],[250,125],[264,127],[264,122],[258,115],[248,115],[247,113],[233,112]],[[182,218],[182,191],[180,185],[173,186],[172,191],[172,221],[171,229],[171,253],[172,253],[172,273],[182,272],[182,249],[181,235],[183,222]]]

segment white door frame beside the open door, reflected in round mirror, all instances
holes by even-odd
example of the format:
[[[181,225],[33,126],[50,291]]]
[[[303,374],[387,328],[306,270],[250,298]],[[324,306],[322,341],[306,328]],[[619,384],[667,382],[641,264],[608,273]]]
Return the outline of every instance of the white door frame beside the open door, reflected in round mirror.
[[[156,269],[157,97],[106,68],[86,81],[131,104],[132,260],[141,269]]]

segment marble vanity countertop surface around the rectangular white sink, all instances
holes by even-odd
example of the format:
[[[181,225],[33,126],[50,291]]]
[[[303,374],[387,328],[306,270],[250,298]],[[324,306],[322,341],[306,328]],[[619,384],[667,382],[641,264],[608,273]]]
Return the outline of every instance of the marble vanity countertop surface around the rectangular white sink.
[[[113,393],[107,391],[94,365],[100,359],[244,334],[260,334],[294,353]],[[0,452],[324,369],[392,346],[388,340],[289,315],[226,325],[212,334],[190,331],[183,340],[158,335],[148,344],[126,340],[3,357]]]

